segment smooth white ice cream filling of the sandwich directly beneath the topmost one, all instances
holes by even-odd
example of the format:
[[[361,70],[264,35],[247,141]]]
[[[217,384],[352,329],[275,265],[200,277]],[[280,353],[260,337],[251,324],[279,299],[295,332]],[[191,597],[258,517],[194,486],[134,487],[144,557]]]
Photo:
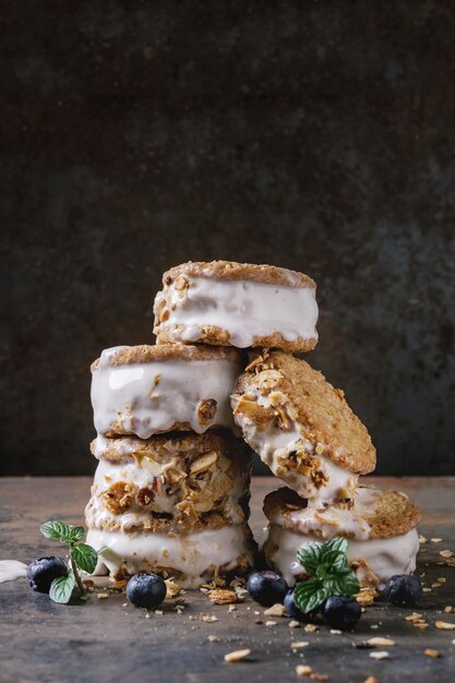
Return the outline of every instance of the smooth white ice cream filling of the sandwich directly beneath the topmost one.
[[[119,420],[127,433],[148,439],[189,423],[197,434],[209,427],[232,428],[229,394],[241,372],[239,362],[168,359],[130,366],[109,366],[120,348],[106,349],[93,371],[92,405],[95,429],[106,434]],[[215,400],[213,418],[200,411],[201,402]]]

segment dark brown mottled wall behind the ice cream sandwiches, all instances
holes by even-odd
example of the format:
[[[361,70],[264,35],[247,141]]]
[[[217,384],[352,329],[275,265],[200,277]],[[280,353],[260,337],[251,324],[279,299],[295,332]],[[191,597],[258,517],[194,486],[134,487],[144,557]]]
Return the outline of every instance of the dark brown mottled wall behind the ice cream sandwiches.
[[[1,471],[95,462],[89,362],[172,264],[319,284],[378,471],[455,472],[453,2],[2,3]]]

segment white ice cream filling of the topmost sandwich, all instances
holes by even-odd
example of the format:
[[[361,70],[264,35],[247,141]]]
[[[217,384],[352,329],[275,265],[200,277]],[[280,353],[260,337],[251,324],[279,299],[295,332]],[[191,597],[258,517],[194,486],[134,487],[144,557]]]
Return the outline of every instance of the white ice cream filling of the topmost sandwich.
[[[158,292],[165,300],[169,317],[161,327],[185,325],[173,331],[173,340],[203,339],[201,328],[214,325],[229,333],[232,346],[247,348],[254,337],[276,332],[286,342],[318,338],[318,303],[311,287],[285,287],[251,280],[213,279],[187,276],[189,288],[170,285]]]

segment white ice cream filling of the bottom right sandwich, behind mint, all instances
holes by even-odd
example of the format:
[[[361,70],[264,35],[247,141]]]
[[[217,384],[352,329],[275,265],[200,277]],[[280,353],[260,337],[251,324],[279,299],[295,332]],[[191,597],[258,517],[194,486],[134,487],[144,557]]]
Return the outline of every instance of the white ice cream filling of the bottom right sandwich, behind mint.
[[[294,586],[296,576],[303,572],[296,559],[298,548],[314,540],[318,540],[314,536],[289,531],[277,524],[270,525],[264,554],[268,564],[283,574],[289,586]],[[416,570],[418,550],[419,535],[416,529],[411,529],[403,536],[391,538],[350,540],[347,554],[349,563],[359,560],[367,562],[379,578],[379,587],[383,588],[394,574],[411,574]]]

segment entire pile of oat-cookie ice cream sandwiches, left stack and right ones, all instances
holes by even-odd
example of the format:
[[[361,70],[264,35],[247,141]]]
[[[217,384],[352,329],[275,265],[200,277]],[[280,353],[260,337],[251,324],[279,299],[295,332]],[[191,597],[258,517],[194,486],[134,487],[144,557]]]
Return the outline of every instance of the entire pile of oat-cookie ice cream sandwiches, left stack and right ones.
[[[92,367],[99,465],[87,538],[106,547],[111,575],[158,571],[197,586],[247,572],[249,446],[288,487],[265,500],[264,551],[289,584],[303,571],[297,549],[335,536],[350,539],[362,584],[411,572],[417,508],[358,488],[375,466],[368,431],[343,392],[291,355],[318,343],[313,280],[216,261],[173,267],[163,284],[157,345],[108,349]]]

